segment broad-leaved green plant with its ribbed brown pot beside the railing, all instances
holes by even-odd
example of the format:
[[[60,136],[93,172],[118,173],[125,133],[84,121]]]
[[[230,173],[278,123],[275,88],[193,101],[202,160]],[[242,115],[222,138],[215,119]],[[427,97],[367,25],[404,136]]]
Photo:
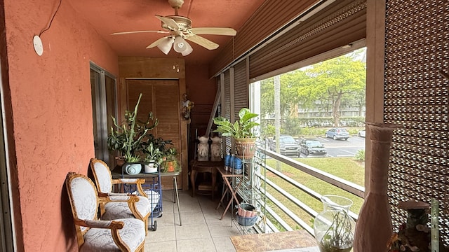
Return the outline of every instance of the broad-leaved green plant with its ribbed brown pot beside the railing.
[[[213,132],[219,132],[225,137],[233,137],[237,155],[241,156],[241,158],[253,158],[256,139],[253,128],[259,125],[259,123],[253,121],[253,118],[257,118],[257,116],[259,115],[251,113],[247,108],[239,111],[239,120],[236,120],[235,123],[231,123],[227,118],[218,116],[213,118],[213,122],[217,125],[217,130]]]

